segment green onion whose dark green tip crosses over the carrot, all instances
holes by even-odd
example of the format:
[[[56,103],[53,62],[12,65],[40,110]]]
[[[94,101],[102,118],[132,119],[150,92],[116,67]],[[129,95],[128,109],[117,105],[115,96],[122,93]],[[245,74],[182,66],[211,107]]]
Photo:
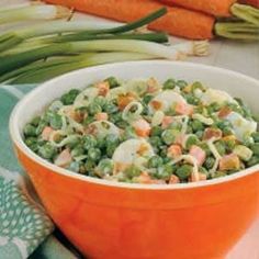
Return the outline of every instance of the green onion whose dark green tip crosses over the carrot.
[[[59,22],[53,21],[45,24],[36,24],[30,27],[20,29],[13,32],[7,32],[0,36],[0,52],[4,52],[14,47],[15,45],[24,42],[29,38],[45,36],[45,35],[53,35],[53,34],[60,34],[60,33],[69,33],[74,32],[70,35],[67,35],[68,38],[63,38],[63,41],[81,41],[83,37],[90,37],[90,35],[98,35],[98,34],[119,34],[130,32],[136,29],[139,29],[156,19],[166,14],[166,8],[161,8],[147,16],[134,21],[132,23],[114,26],[103,24],[103,23],[93,23],[93,22]],[[1,21],[1,14],[0,14]],[[81,33],[78,33],[81,32]],[[65,36],[65,35],[64,35]]]

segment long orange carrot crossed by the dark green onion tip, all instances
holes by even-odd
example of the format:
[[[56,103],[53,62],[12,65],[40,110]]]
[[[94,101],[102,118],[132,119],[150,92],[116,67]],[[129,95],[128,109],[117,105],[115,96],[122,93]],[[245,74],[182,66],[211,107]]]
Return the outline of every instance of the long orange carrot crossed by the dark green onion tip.
[[[75,10],[104,16],[121,22],[132,22],[164,7],[155,0],[45,0],[74,8]],[[149,29],[165,31],[169,34],[193,38],[206,40],[213,37],[215,19],[211,15],[187,10],[183,8],[168,7],[168,13],[153,22]]]

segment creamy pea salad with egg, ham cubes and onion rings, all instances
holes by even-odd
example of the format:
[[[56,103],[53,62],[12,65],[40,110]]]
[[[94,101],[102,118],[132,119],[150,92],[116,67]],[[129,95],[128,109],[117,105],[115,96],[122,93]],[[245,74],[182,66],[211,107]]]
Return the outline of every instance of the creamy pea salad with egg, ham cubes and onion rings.
[[[127,183],[204,181],[259,164],[257,122],[240,99],[172,78],[110,77],[71,89],[23,135],[56,166]]]

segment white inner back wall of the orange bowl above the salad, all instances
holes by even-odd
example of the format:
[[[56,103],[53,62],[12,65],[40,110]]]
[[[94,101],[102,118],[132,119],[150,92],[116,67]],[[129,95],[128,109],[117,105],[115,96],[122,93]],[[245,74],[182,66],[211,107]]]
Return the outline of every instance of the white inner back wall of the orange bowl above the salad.
[[[22,130],[25,123],[36,114],[41,114],[46,105],[69,89],[82,89],[110,76],[125,80],[156,77],[160,82],[170,77],[188,82],[201,81],[207,87],[225,90],[233,97],[241,98],[255,114],[259,114],[259,81],[241,74],[191,63],[162,60],[120,63],[69,72],[49,80],[30,92],[15,106],[10,120],[10,132],[14,143],[29,151],[22,142]],[[259,166],[256,167],[259,168]]]

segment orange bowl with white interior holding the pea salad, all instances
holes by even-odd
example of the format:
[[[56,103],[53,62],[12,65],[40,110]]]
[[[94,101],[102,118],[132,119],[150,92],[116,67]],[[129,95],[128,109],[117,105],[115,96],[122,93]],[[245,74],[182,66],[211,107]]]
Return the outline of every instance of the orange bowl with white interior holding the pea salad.
[[[29,93],[10,120],[18,158],[50,217],[90,258],[224,258],[259,216],[259,165],[196,183],[115,183],[52,165],[23,143],[23,126],[52,100],[70,88],[83,88],[109,76],[200,80],[241,97],[259,113],[257,80],[196,64],[113,64],[50,80]]]

